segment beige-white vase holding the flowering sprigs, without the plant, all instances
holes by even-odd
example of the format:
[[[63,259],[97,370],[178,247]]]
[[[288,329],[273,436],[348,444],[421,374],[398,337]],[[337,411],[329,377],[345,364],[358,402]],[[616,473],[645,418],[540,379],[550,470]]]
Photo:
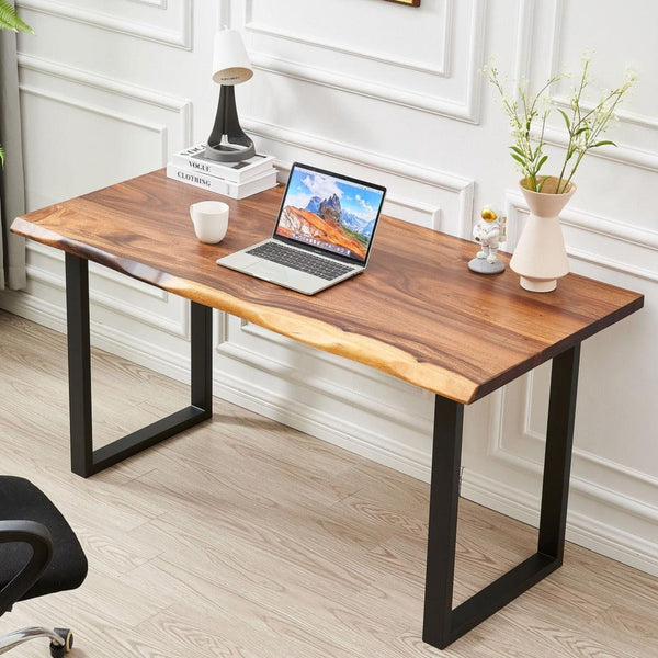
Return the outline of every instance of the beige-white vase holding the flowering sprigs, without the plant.
[[[552,194],[557,179],[547,178],[543,188],[547,191],[543,192],[532,192],[521,181],[530,217],[510,260],[510,268],[521,276],[521,287],[533,293],[554,291],[557,280],[569,273],[559,213],[576,192],[576,185],[570,183],[567,192]]]

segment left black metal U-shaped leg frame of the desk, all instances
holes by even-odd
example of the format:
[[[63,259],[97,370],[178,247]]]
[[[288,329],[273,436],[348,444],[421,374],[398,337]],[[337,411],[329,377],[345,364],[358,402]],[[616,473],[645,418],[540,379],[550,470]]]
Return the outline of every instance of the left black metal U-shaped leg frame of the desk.
[[[89,477],[213,415],[213,309],[192,302],[191,405],[132,434],[93,450],[89,272],[87,260],[66,254],[71,470]]]

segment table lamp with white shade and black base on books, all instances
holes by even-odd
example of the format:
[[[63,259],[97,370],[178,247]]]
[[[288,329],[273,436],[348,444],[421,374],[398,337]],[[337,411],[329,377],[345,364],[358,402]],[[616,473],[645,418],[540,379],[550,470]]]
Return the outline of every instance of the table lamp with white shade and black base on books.
[[[238,121],[234,87],[253,76],[242,37],[235,30],[220,30],[215,35],[213,80],[220,84],[215,125],[208,137],[205,157],[219,162],[237,162],[256,155],[253,141]]]

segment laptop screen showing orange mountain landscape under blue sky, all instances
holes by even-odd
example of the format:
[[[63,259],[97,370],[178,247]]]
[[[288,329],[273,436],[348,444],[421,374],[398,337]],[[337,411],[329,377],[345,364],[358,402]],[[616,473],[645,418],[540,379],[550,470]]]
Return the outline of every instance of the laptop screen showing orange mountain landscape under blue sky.
[[[386,189],[295,162],[274,235],[365,263]]]

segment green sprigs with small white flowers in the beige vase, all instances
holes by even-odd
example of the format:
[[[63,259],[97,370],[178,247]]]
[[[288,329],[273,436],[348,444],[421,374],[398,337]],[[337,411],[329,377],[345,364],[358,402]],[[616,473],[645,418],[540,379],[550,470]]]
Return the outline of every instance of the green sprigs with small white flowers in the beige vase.
[[[600,139],[600,136],[611,126],[617,105],[634,84],[636,77],[627,71],[623,84],[612,91],[600,91],[599,102],[592,106],[583,101],[586,90],[592,82],[590,64],[591,58],[588,55],[583,56],[579,84],[569,97],[569,112],[560,107],[556,109],[548,98],[551,86],[565,78],[566,73],[553,76],[534,95],[529,92],[527,81],[521,80],[515,86],[517,93],[512,95],[500,80],[494,64],[485,69],[489,81],[500,93],[502,109],[510,120],[514,138],[514,144],[510,146],[511,156],[523,174],[523,185],[533,192],[542,192],[544,183],[551,178],[538,173],[548,159],[548,156],[543,152],[546,144],[544,132],[546,120],[554,110],[561,115],[569,136],[565,159],[554,190],[555,194],[564,193],[569,189],[574,174],[587,151],[605,145],[616,146],[610,139]]]

